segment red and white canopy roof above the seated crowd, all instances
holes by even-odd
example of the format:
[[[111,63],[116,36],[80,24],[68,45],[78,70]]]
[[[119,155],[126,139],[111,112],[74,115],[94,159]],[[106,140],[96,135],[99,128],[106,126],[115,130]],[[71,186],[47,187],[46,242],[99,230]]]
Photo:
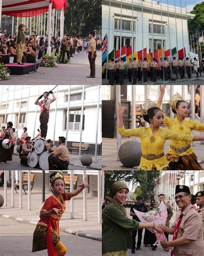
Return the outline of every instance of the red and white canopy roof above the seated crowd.
[[[2,0],[2,14],[15,17],[37,16],[48,12],[49,3],[52,9],[64,11],[67,7],[66,0]]]

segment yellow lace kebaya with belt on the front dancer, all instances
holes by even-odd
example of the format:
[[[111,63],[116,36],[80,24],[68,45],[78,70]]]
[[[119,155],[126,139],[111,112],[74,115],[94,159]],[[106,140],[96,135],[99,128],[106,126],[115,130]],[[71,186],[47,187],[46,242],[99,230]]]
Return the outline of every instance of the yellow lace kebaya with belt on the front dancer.
[[[163,170],[168,167],[167,158],[164,155],[164,143],[166,140],[186,141],[190,144],[193,135],[179,134],[158,128],[153,136],[151,127],[139,127],[135,129],[125,129],[124,126],[117,128],[121,136],[135,136],[141,139],[142,157],[139,168],[141,170]]]

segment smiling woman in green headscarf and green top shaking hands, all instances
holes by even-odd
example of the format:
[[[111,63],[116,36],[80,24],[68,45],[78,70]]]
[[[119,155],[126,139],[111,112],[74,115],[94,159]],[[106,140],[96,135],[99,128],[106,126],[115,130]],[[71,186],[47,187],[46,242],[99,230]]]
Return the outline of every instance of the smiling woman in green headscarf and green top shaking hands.
[[[157,228],[157,223],[142,223],[127,217],[122,204],[128,197],[129,189],[124,182],[115,182],[105,198],[109,201],[102,215],[102,256],[127,256],[132,249],[131,231],[140,228]]]

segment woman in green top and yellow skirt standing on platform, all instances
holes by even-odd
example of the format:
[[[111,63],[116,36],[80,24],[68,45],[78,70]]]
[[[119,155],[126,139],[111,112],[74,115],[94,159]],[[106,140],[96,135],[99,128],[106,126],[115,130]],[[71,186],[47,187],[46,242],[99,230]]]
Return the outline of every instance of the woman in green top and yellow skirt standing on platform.
[[[25,25],[20,24],[18,27],[18,35],[17,35],[17,62],[19,65],[23,65],[22,63],[22,56],[24,51],[25,45]]]

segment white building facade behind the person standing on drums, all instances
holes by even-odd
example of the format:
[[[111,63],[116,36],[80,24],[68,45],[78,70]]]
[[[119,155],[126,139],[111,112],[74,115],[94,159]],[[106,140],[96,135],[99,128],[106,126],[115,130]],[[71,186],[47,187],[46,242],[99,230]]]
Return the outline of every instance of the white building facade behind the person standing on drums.
[[[34,138],[37,135],[37,129],[40,129],[40,106],[34,105],[35,100],[45,91],[52,90],[54,86],[2,86],[0,94],[0,125],[11,121],[13,128],[18,129],[20,138],[23,128],[28,128],[28,135]],[[23,88],[23,89],[22,89]],[[30,89],[29,89],[30,88]],[[68,109],[68,90],[69,86],[58,86],[53,91],[56,101],[52,102],[49,109],[49,122],[46,139],[55,140],[58,145],[58,137],[66,138],[67,109]],[[98,91],[99,96],[99,116],[97,116]],[[89,143],[89,154],[93,154],[96,144],[96,125],[98,118],[98,138],[97,138],[97,154],[101,154],[102,143],[102,125],[101,125],[101,88],[98,86],[85,86],[84,106],[83,106],[83,128],[82,142]],[[69,105],[69,122],[68,122],[68,146],[72,142],[80,141],[80,116],[82,108],[82,92],[83,86],[71,85],[70,105]],[[22,101],[21,101],[22,95]],[[29,96],[29,97],[28,97]],[[52,95],[49,95],[52,98]],[[7,100],[8,99],[8,100]],[[41,99],[40,99],[41,100]],[[8,102],[8,104],[7,104]],[[21,106],[20,106],[21,102]],[[7,105],[7,107],[6,107]],[[20,110],[19,110],[20,108]],[[28,109],[28,110],[27,110]],[[37,109],[37,113],[36,113]],[[19,124],[18,124],[18,116]],[[27,114],[26,114],[27,113]],[[6,115],[6,119],[5,119]],[[54,131],[55,128],[55,131]]]

